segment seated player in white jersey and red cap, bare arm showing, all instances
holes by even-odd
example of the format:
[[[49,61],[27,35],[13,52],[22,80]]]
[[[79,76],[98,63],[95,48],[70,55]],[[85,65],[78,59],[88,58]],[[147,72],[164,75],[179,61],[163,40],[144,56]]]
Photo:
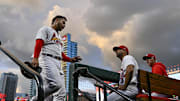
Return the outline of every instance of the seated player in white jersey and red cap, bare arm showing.
[[[134,98],[138,94],[137,74],[139,66],[136,62],[136,59],[133,56],[129,55],[129,50],[124,45],[114,47],[113,51],[116,53],[116,56],[121,60],[118,90],[121,93],[128,95],[131,98]],[[107,97],[107,101],[126,101],[126,99],[116,94],[115,92],[112,92]]]

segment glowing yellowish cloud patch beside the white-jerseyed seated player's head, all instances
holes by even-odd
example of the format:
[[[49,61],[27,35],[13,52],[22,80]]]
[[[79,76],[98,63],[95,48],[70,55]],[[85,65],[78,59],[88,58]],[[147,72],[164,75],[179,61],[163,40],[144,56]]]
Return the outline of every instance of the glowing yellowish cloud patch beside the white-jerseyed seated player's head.
[[[108,37],[99,35],[96,32],[87,31],[89,35],[88,42],[101,49],[104,64],[112,67],[115,71],[119,70],[120,60],[116,58],[112,48],[119,45],[131,46],[131,41],[129,40],[131,39],[132,24],[131,21],[127,22],[122,29],[114,31],[112,35]]]

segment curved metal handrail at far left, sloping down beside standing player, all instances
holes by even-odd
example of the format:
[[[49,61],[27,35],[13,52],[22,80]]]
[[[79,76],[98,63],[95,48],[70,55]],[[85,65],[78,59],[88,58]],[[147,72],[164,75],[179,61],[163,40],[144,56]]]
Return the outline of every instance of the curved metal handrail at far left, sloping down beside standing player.
[[[43,80],[41,75],[33,70],[31,67],[26,65],[24,62],[19,60],[17,57],[15,57],[13,54],[11,54],[7,49],[3,48],[1,46],[0,42],[0,50],[6,54],[11,60],[13,60],[19,67],[20,69],[25,70],[27,73],[33,76],[33,79],[36,80],[36,84],[38,86],[38,101],[44,101],[44,89],[43,89]]]

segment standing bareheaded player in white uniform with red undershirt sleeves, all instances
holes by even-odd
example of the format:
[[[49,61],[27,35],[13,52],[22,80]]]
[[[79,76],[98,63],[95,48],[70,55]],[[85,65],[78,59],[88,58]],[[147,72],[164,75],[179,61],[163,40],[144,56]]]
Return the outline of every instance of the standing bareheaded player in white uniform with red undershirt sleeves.
[[[40,28],[36,35],[33,67],[42,68],[41,76],[44,83],[45,101],[52,101],[53,93],[58,91],[58,101],[65,101],[66,91],[61,60],[78,62],[81,57],[69,58],[63,53],[63,41],[58,33],[65,28],[66,17],[58,15],[52,19],[52,25]],[[60,72],[59,72],[60,71]],[[37,96],[31,99],[37,101]]]

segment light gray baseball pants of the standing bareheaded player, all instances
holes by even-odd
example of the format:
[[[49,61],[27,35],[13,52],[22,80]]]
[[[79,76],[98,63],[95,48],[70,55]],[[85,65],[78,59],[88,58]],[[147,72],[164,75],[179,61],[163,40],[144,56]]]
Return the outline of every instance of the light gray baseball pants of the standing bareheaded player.
[[[66,90],[64,82],[64,73],[61,69],[61,62],[55,58],[40,55],[39,66],[42,68],[41,76],[44,83],[45,100],[53,101],[53,94],[57,93],[55,98],[58,101],[65,101]],[[32,99],[32,101],[36,101]]]

